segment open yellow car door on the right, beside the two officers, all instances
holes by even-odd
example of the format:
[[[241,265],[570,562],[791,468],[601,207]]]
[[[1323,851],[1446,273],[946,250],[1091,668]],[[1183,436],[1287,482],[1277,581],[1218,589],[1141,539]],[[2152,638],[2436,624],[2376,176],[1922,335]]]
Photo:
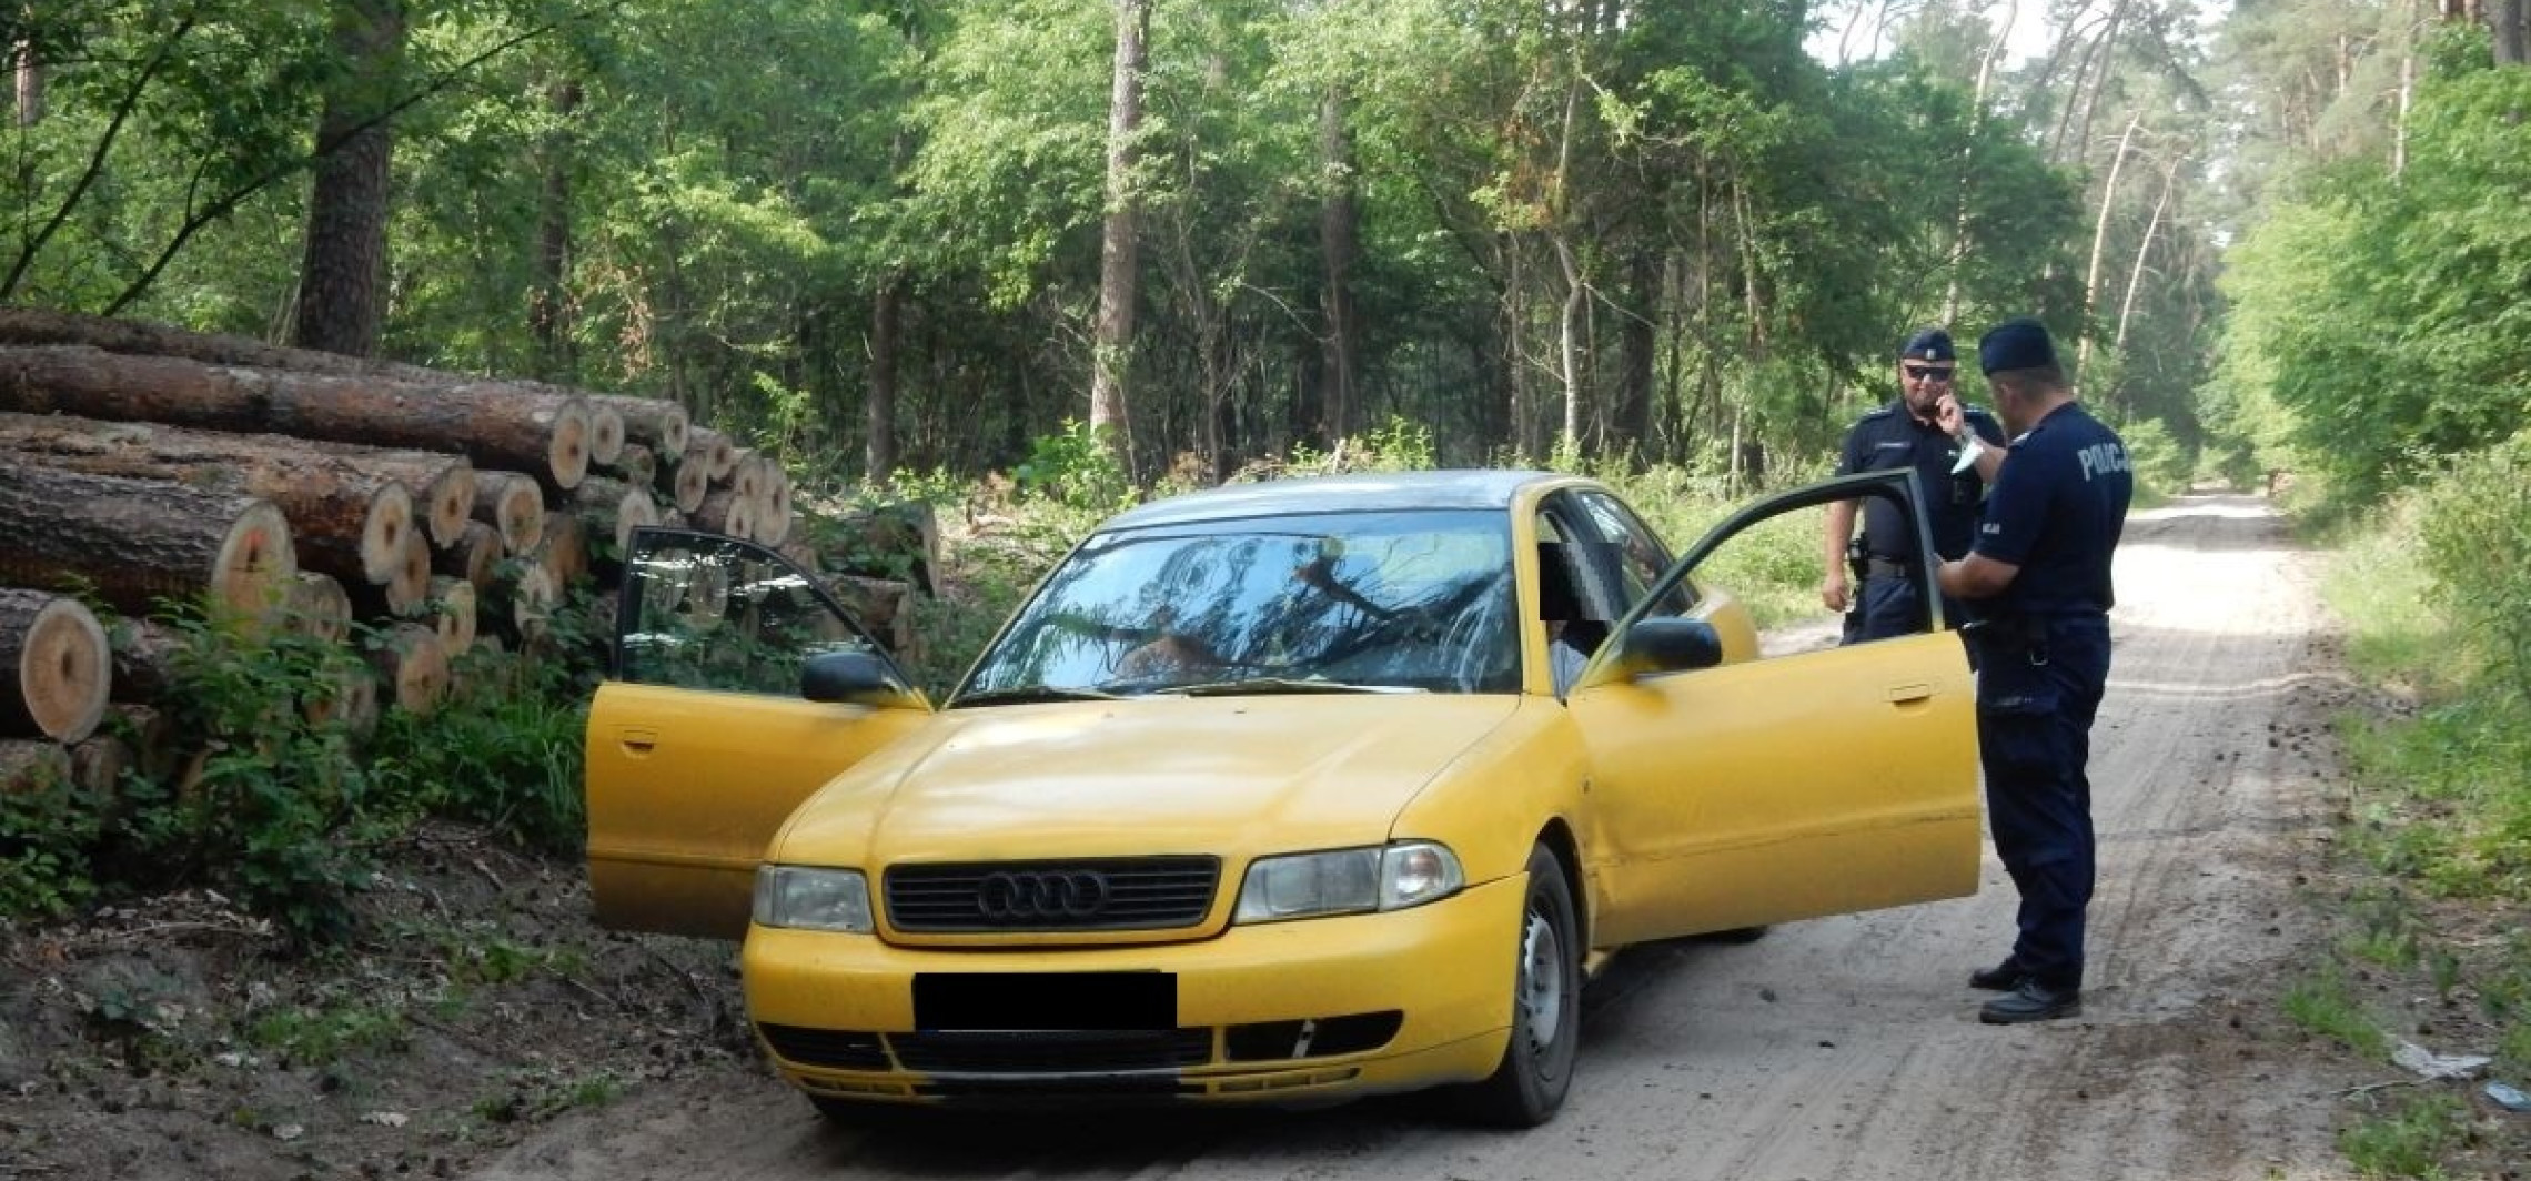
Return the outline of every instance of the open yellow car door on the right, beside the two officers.
[[[1913,470],[1772,496],[1691,546],[1574,680],[1605,943],[1977,893],[1977,693],[1931,569],[1911,572],[1931,630],[1843,647],[1835,617],[1762,642],[1739,602],[1688,582],[1762,526],[1817,546],[1825,506],[1858,496],[1893,498],[1934,551]],[[1751,559],[1767,551],[1782,541]]]

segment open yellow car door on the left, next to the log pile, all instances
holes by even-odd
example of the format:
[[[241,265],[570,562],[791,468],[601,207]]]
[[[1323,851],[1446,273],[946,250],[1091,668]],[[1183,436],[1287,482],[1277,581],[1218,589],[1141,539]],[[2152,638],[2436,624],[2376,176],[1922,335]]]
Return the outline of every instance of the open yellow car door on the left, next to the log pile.
[[[886,690],[810,701],[805,685],[830,683],[823,673],[838,660]],[[597,923],[747,933],[757,862],[792,809],[931,716],[911,685],[818,577],[782,554],[635,529],[615,668],[585,736]]]

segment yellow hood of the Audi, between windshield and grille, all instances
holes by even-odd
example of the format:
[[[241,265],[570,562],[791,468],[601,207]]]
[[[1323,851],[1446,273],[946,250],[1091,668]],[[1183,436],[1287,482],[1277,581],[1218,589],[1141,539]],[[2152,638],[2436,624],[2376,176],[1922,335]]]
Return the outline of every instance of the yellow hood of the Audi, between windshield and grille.
[[[818,792],[792,865],[1377,845],[1514,695],[1134,698],[947,711]]]

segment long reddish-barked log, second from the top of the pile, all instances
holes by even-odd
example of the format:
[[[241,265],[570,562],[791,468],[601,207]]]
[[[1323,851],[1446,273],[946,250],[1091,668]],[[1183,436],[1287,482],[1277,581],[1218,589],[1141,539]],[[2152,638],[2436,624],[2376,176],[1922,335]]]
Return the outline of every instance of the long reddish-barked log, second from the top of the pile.
[[[585,397],[514,382],[410,382],[246,369],[84,346],[0,349],[0,410],[172,422],[385,448],[456,450],[572,488],[590,468]]]

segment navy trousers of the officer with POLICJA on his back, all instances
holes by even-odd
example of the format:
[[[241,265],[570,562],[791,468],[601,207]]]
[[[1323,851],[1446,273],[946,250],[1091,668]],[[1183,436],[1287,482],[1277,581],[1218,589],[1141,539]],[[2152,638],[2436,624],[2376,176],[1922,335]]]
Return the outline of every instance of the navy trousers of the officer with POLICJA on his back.
[[[2083,986],[2091,905],[2091,718],[2108,683],[2108,617],[2053,617],[1979,645],[1977,754],[1994,852],[2020,890],[2012,961],[2050,989]]]

